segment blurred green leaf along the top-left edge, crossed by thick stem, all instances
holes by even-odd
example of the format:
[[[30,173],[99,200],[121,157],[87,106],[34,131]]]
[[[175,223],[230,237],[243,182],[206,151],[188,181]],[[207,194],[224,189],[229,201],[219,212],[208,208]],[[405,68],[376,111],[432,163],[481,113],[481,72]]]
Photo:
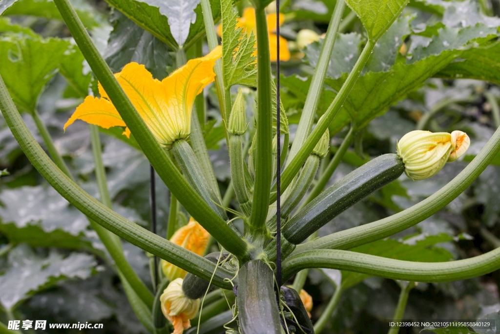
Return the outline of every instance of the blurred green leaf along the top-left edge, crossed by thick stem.
[[[97,27],[105,22],[105,18],[84,0],[71,0],[71,4],[86,28]],[[14,0],[3,15],[29,15],[62,21],[52,0]]]

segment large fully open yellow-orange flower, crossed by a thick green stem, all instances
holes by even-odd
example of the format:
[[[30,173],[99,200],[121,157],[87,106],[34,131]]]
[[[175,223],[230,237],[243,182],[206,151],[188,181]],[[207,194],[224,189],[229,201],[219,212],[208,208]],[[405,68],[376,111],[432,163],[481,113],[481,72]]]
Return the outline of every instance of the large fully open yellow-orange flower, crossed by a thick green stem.
[[[114,75],[163,147],[169,148],[175,140],[189,135],[194,98],[214,81],[213,66],[221,53],[221,47],[217,47],[205,57],[188,61],[162,81],[153,79],[145,67],[137,63],[125,65],[120,73]],[[64,124],[64,129],[77,119],[105,129],[125,126],[100,84],[99,93],[100,98],[85,98]],[[128,128],[123,134],[130,135]]]

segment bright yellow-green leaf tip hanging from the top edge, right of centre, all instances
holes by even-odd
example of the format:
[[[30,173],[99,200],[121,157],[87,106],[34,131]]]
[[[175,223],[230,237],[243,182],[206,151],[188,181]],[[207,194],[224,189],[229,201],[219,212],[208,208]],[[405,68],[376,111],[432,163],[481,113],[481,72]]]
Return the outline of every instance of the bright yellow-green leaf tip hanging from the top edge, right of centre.
[[[409,0],[346,0],[357,14],[368,38],[377,41],[399,16]]]

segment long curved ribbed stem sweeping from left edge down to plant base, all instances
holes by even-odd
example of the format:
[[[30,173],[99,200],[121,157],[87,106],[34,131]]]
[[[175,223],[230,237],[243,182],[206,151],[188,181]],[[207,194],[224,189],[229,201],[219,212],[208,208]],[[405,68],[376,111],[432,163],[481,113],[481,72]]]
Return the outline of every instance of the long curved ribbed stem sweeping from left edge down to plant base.
[[[61,0],[56,0],[61,1]],[[76,15],[75,15],[75,18]],[[125,96],[126,98],[126,96]],[[7,88],[0,76],[0,110],[3,118],[10,128],[12,135],[19,143],[22,151],[33,164],[40,175],[66,200],[73,204],[78,210],[86,215],[90,220],[97,222],[103,228],[116,234],[133,245],[142,248],[143,250],[154,254],[173,265],[176,265],[186,271],[189,271],[196,276],[204,279],[210,279],[212,272],[215,270],[215,264],[209,260],[198,256],[164,238],[151,233],[143,227],[123,218],[119,214],[107,208],[92,196],[81,189],[67,175],[62,173],[52,160],[45,154],[43,149],[38,145],[36,140],[29,132],[26,124],[22,120],[19,112],[15,108],[14,103]],[[140,121],[142,121],[140,119]],[[175,168],[175,167],[174,167]],[[172,177],[170,175],[170,177]],[[182,175],[179,173],[179,177]],[[194,196],[199,196],[193,193]],[[204,202],[202,202],[204,203]],[[211,211],[211,210],[210,210]],[[216,214],[213,216],[217,217]],[[196,219],[196,217],[195,217]],[[205,218],[206,219],[206,218]],[[220,219],[220,218],[218,218]],[[213,224],[213,221],[212,221]],[[232,229],[223,222],[229,232],[224,232],[224,243],[227,244],[229,234],[235,234]],[[211,229],[211,225],[207,225]],[[98,232],[98,230],[97,230]],[[210,232],[210,231],[208,231]],[[220,231],[218,231],[220,232]],[[230,238],[230,237],[229,237]],[[244,244],[243,248],[239,248],[242,254],[245,254],[246,242],[241,238],[237,239]],[[233,245],[232,243],[230,246]],[[126,275],[125,272],[123,274]],[[217,268],[213,283],[216,286],[223,288],[231,288],[229,283],[224,282],[224,278],[232,278],[232,273],[223,268]]]

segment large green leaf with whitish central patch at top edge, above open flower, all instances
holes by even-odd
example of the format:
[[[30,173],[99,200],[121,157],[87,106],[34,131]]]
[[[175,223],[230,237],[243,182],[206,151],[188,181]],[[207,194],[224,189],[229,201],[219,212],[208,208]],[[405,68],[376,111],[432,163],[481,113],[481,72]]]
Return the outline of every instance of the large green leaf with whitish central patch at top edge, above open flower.
[[[106,0],[135,24],[173,50],[188,49],[204,35],[199,0]],[[211,0],[213,19],[220,18],[220,2]]]

